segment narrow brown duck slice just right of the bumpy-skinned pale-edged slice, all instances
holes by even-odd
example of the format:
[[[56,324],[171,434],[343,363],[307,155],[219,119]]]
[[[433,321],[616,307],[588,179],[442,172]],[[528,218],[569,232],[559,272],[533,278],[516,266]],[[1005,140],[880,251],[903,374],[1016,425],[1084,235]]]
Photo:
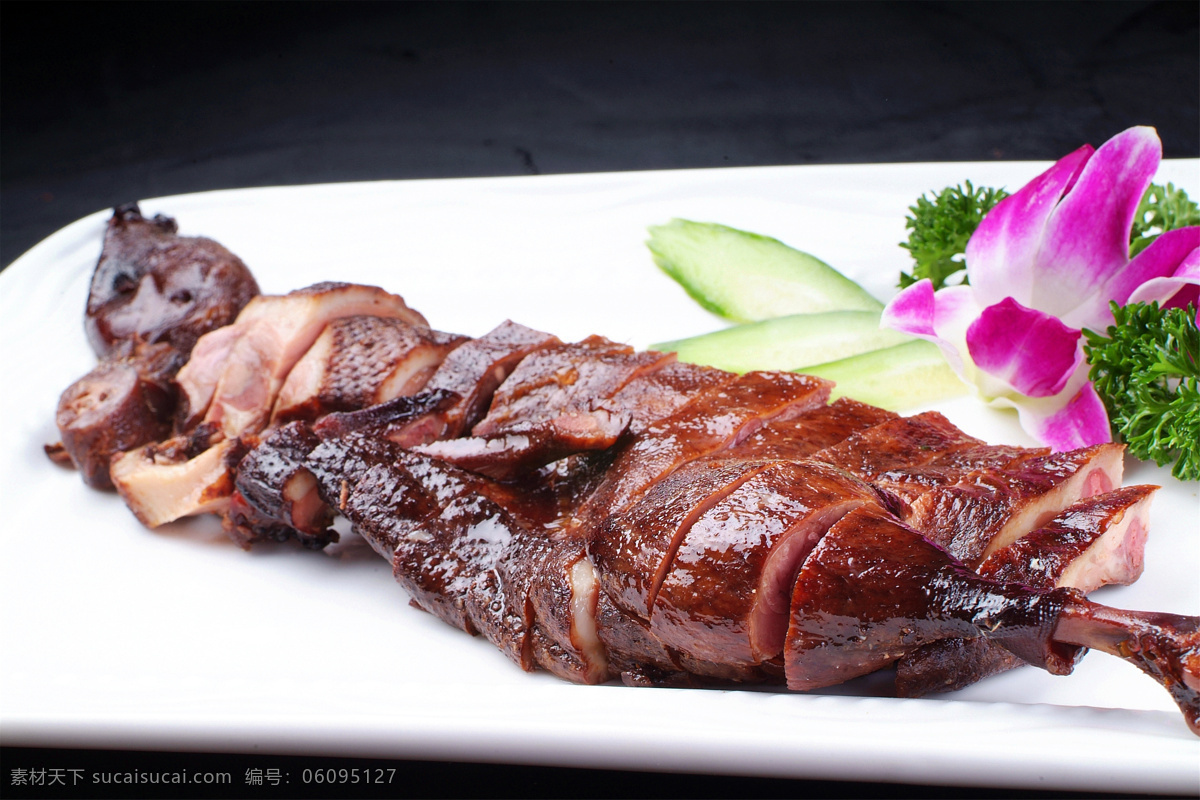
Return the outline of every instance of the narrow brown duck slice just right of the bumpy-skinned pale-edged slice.
[[[559,343],[557,336],[505,321],[451,351],[425,385],[461,398],[446,414],[445,431],[436,438],[454,439],[469,431],[492,402],[496,389],[526,356]]]

